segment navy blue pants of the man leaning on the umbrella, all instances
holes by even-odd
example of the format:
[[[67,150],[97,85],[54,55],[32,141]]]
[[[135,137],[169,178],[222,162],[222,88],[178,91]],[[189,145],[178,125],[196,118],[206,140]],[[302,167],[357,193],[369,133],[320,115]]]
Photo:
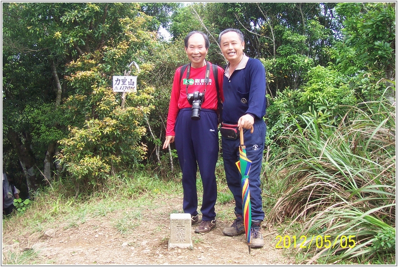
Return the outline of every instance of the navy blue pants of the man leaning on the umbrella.
[[[261,198],[260,173],[267,126],[263,120],[259,120],[254,123],[253,128],[253,133],[250,133],[250,130],[243,130],[243,140],[246,146],[247,158],[252,161],[249,171],[252,220],[263,221],[264,211]],[[221,141],[227,184],[235,199],[235,212],[242,215],[242,176],[236,166],[236,161],[239,160],[240,139],[231,140],[222,137]]]

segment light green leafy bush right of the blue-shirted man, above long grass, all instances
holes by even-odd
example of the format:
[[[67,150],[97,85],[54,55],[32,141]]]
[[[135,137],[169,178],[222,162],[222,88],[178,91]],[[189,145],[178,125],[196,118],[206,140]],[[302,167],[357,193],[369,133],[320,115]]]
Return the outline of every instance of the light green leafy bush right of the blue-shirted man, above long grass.
[[[323,128],[337,126],[339,120],[356,104],[354,90],[343,76],[331,68],[316,66],[306,73],[306,83],[298,90],[287,88],[274,99],[268,98],[267,109],[267,144],[270,145],[273,159],[280,151],[289,147],[286,138],[278,136],[304,127],[302,115],[310,112]],[[298,124],[298,126],[296,126]]]

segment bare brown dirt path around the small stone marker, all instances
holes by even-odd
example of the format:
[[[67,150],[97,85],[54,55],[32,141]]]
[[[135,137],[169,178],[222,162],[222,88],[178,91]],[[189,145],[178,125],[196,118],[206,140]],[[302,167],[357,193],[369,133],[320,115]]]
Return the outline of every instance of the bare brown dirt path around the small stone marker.
[[[102,216],[87,216],[84,223],[59,221],[52,227],[35,233],[7,233],[3,230],[3,258],[8,252],[35,250],[39,257],[34,264],[54,265],[287,265],[292,258],[275,249],[275,232],[263,228],[265,246],[248,247],[244,235],[227,237],[222,229],[231,220],[217,215],[217,227],[207,234],[195,234],[192,227],[193,249],[168,251],[170,213],[182,208],[182,198],[159,197],[150,207],[115,210]],[[139,209],[140,216],[132,231],[118,232],[115,220]],[[216,205],[216,212],[233,213],[233,203]],[[18,242],[15,242],[17,240]],[[4,260],[4,259],[3,259]]]

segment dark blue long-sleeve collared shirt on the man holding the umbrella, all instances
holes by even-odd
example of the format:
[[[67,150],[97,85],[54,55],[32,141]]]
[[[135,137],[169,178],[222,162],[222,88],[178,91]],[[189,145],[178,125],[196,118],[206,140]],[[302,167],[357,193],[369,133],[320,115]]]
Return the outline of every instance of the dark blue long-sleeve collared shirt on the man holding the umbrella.
[[[255,120],[265,116],[267,100],[265,69],[258,59],[244,56],[229,77],[229,65],[225,68],[222,121],[237,124],[240,117],[250,114]]]

